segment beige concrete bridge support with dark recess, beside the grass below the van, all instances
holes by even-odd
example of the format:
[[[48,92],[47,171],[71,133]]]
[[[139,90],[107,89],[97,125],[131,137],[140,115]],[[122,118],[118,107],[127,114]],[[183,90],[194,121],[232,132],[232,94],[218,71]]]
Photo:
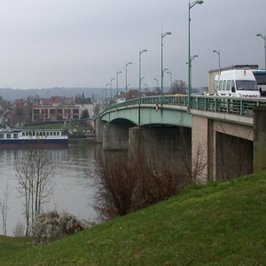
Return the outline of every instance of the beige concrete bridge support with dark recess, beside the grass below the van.
[[[251,174],[255,156],[253,137],[250,126],[193,115],[193,180],[207,183]]]

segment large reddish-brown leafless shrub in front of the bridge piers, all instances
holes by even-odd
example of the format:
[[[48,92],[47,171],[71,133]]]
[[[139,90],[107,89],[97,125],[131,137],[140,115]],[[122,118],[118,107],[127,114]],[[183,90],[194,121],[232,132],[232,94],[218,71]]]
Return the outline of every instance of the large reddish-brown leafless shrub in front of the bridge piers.
[[[163,152],[153,130],[141,134],[141,145],[136,142],[127,152],[103,153],[98,158],[94,199],[101,220],[168,199],[189,182],[176,156]]]

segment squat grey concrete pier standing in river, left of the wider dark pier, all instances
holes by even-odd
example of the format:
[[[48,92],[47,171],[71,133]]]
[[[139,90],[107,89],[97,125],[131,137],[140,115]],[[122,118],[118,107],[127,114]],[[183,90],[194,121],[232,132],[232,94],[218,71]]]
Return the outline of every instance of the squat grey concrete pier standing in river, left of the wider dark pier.
[[[129,128],[131,124],[111,124],[104,125],[103,150],[121,151],[129,148]]]

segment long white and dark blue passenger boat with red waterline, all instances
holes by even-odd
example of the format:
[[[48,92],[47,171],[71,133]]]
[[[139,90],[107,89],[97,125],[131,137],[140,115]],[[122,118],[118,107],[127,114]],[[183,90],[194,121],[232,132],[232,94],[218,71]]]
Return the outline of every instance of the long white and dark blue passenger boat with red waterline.
[[[67,147],[66,129],[1,129],[0,148],[42,145],[51,148]]]

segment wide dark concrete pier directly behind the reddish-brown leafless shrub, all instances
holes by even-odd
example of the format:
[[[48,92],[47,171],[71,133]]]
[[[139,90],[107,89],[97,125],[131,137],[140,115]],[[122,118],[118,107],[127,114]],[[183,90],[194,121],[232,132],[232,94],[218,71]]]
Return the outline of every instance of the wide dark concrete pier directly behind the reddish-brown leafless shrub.
[[[190,171],[191,137],[192,130],[184,127],[134,127],[129,129],[129,151],[157,165],[172,163],[180,171]]]

